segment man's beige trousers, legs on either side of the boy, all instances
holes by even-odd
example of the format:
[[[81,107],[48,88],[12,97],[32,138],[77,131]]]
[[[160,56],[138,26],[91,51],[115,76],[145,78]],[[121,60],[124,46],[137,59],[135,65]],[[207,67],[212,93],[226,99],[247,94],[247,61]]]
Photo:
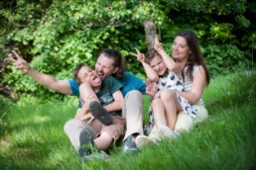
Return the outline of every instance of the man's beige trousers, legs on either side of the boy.
[[[143,134],[143,96],[137,90],[130,91],[124,99],[122,108],[122,116],[126,118],[126,132],[124,139],[133,133]],[[64,125],[64,132],[68,136],[71,144],[77,151],[80,145],[79,135],[80,131],[88,127],[96,133],[100,132],[101,126],[99,124],[88,125],[86,122],[71,119]]]

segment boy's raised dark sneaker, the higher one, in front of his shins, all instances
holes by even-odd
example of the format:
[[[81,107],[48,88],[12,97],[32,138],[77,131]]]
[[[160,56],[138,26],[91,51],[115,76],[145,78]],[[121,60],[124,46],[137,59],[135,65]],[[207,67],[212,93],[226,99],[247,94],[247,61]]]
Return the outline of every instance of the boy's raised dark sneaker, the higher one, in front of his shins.
[[[103,106],[100,103],[96,101],[90,102],[89,112],[95,119],[97,119],[104,126],[112,125],[112,118],[110,114],[107,112],[105,108],[103,108]]]

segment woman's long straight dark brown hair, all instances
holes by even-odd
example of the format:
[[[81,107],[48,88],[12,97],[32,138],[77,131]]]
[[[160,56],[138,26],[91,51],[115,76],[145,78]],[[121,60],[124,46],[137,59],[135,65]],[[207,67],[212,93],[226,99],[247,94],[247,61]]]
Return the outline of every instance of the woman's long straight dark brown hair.
[[[192,51],[192,53],[189,56],[188,63],[187,63],[187,66],[188,66],[187,72],[185,72],[185,70],[183,70],[183,79],[185,78],[185,74],[187,74],[189,77],[189,80],[192,81],[193,66],[201,65],[205,71],[207,84],[209,84],[209,80],[210,80],[209,71],[208,71],[208,68],[206,67],[206,64],[204,63],[202,54],[200,52],[199,43],[198,43],[196,35],[192,31],[182,31],[182,32],[178,33],[177,36],[180,36],[180,37],[183,37],[184,39],[186,39],[186,41]]]

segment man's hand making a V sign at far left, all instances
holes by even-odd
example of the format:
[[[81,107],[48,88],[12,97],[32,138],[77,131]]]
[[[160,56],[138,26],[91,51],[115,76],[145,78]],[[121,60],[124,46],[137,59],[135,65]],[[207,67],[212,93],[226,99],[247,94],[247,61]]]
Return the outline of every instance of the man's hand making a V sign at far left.
[[[13,54],[17,57],[17,59],[12,56]],[[23,59],[15,50],[12,50],[12,53],[8,54],[8,57],[5,58],[5,61],[13,62],[13,65],[16,66],[16,68],[25,73],[29,73],[32,68],[30,64],[25,59]]]

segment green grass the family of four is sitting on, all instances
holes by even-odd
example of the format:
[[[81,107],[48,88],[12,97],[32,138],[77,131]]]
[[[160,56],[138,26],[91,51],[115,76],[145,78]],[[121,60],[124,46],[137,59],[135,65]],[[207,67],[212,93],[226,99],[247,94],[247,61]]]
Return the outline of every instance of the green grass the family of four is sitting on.
[[[211,81],[203,100],[208,121],[173,142],[136,155],[109,150],[110,160],[79,162],[64,134],[76,99],[12,103],[0,98],[0,169],[255,169],[256,75],[233,73]],[[149,100],[145,99],[145,112]],[[145,116],[148,123],[148,115]]]

